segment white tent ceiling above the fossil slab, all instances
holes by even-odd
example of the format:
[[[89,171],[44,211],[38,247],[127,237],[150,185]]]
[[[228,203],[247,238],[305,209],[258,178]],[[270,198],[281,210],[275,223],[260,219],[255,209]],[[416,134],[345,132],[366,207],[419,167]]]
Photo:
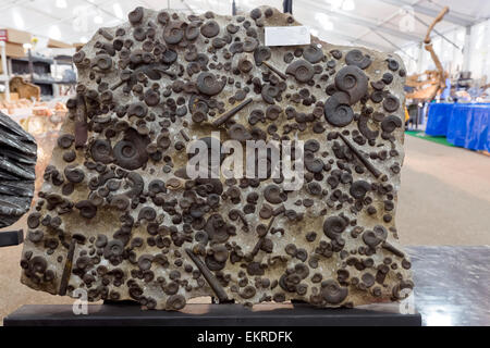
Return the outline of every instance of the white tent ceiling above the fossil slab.
[[[235,3],[238,11],[264,3],[282,9],[282,0]],[[0,27],[30,32],[39,39],[81,42],[100,26],[126,21],[137,5],[186,13],[232,12],[232,0],[0,0]],[[443,5],[451,12],[437,27],[441,34],[490,16],[489,0],[293,0],[293,15],[329,42],[395,51],[421,41],[427,30],[422,23],[430,24]]]

